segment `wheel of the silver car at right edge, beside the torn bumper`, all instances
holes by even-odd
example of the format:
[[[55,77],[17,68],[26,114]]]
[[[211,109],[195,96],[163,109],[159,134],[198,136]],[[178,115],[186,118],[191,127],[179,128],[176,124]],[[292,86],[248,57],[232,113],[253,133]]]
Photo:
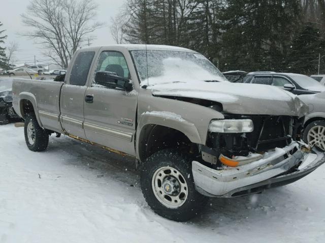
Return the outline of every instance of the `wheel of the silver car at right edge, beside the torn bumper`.
[[[304,131],[304,141],[325,151],[325,121],[316,120],[309,124]]]

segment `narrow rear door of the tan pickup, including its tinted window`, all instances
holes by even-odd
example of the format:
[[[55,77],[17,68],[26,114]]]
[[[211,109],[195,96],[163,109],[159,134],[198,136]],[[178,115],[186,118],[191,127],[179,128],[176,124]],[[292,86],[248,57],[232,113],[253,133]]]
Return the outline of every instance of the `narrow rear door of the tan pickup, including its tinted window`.
[[[60,121],[62,129],[70,135],[85,139],[83,129],[84,97],[89,70],[95,51],[81,51],[76,54],[72,68],[67,73],[60,96]]]

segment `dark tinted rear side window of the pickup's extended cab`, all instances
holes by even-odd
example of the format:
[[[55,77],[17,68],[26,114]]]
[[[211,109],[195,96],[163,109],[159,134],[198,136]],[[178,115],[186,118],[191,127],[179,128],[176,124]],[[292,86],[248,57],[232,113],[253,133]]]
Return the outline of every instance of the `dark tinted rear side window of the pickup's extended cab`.
[[[95,52],[80,52],[73,63],[70,74],[70,85],[84,86]]]

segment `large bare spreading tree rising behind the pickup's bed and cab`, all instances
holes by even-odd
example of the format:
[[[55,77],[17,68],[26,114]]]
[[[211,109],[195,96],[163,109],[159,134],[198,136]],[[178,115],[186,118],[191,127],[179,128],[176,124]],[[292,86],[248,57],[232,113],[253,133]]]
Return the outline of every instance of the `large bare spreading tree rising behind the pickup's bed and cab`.
[[[21,16],[34,30],[22,35],[35,39],[47,49],[45,55],[67,68],[87,35],[104,26],[95,21],[97,8],[93,0],[31,0]]]

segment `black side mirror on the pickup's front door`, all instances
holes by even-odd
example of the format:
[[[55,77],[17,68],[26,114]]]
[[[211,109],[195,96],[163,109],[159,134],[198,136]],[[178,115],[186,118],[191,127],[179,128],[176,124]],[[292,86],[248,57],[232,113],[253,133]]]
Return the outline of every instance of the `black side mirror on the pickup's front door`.
[[[130,80],[118,76],[115,72],[98,71],[95,74],[95,83],[111,89],[122,89],[127,92],[132,91],[133,85]]]

